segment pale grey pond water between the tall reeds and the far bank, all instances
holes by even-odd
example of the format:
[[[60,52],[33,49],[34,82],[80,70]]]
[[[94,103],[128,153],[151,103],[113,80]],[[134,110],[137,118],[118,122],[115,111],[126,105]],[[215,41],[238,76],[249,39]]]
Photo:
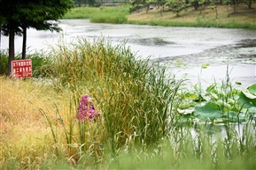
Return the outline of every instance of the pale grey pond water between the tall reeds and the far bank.
[[[113,43],[127,41],[137,56],[159,62],[171,74],[184,74],[192,85],[224,81],[229,73],[232,82],[242,86],[256,83],[256,31],[245,29],[165,27],[94,24],[87,19],[60,20],[61,33],[27,31],[28,51],[47,49],[58,41],[69,43],[81,36],[89,40],[105,37]],[[15,41],[21,51],[22,38]],[[1,48],[8,48],[2,37]],[[202,69],[202,64],[209,64]]]

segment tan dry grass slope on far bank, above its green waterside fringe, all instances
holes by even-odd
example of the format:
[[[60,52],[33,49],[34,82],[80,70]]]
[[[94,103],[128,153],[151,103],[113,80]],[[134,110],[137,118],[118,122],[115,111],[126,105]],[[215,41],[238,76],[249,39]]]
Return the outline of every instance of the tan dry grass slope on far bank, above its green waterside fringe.
[[[170,21],[179,23],[194,23],[198,21],[198,18],[206,18],[207,20],[215,20],[221,23],[237,22],[241,24],[253,24],[256,25],[256,10],[255,4],[252,9],[244,4],[239,4],[237,12],[234,12],[232,8],[228,11],[227,5],[217,5],[216,10],[210,6],[204,6],[202,10],[194,10],[190,7],[187,11],[182,11],[178,17],[171,11],[160,12],[159,9],[151,11],[142,11],[134,13],[128,16],[128,21]]]

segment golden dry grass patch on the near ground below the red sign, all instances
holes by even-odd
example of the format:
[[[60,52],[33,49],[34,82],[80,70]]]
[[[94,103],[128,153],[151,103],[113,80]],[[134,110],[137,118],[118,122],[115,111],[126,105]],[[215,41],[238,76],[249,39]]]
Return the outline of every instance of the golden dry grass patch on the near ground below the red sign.
[[[48,110],[50,116],[54,116],[53,103],[64,106],[65,97],[53,91],[49,85],[39,85],[33,80],[13,81],[10,78],[0,77],[0,85],[1,147],[12,145],[16,148],[13,152],[19,152],[20,156],[24,147],[41,147],[50,144],[52,142],[50,128],[39,108]]]

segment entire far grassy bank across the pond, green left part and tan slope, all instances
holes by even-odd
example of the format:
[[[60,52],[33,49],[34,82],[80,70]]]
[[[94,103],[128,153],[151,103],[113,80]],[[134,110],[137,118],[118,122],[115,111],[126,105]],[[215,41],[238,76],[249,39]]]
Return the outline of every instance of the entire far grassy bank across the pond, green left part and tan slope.
[[[217,5],[215,8],[203,6],[200,10],[193,7],[181,11],[176,16],[172,11],[139,11],[130,14],[129,5],[116,7],[89,8],[79,7],[67,12],[64,18],[89,18],[91,22],[128,23],[152,26],[198,26],[256,29],[256,10],[244,4],[237,6],[237,11],[227,5]]]

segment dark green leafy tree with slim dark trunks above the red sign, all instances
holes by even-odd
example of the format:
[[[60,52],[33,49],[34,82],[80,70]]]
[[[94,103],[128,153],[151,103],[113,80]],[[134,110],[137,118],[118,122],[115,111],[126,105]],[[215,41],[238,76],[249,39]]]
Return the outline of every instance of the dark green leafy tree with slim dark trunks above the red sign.
[[[27,28],[58,31],[58,18],[72,5],[71,0],[0,0],[0,18],[4,18],[1,29],[4,35],[9,35],[8,75],[14,60],[14,36],[23,34],[26,49]]]

